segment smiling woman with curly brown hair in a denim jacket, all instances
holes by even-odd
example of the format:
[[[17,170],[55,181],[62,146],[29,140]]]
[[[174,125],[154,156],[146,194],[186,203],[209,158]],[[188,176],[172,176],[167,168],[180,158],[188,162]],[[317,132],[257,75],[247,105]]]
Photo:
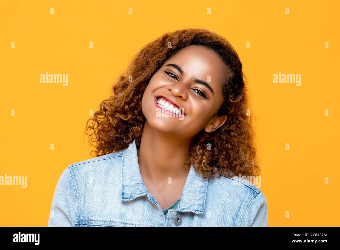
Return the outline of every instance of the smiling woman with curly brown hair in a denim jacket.
[[[143,47],[58,180],[49,226],[267,226],[240,59],[203,29]],[[92,125],[88,125],[91,121]],[[91,151],[91,152],[93,152]]]

